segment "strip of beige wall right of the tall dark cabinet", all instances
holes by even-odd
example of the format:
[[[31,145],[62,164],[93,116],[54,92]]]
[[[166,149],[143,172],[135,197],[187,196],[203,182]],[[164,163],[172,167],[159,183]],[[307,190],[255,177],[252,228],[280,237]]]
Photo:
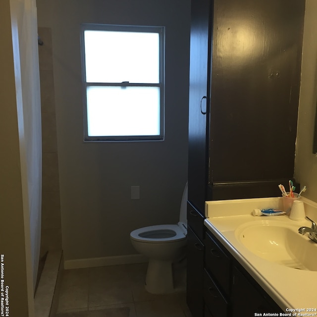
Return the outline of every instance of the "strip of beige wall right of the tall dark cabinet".
[[[317,1],[306,0],[303,61],[295,177],[307,186],[305,197],[317,202],[317,155],[313,154],[315,113],[317,106]]]

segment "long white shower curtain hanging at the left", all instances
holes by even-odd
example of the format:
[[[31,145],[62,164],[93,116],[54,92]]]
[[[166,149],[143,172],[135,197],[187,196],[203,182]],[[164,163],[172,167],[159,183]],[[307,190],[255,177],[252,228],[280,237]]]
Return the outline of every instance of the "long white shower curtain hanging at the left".
[[[20,135],[23,208],[29,215],[35,290],[40,257],[42,129],[36,0],[10,0],[18,21],[23,131]],[[22,133],[20,133],[22,132]],[[23,135],[21,135],[23,134]]]

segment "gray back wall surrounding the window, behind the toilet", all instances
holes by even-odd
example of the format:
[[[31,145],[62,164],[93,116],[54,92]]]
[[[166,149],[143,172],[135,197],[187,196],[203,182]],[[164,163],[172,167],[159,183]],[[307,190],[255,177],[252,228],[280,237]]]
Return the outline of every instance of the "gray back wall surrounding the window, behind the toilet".
[[[189,0],[38,0],[52,29],[65,260],[135,254],[129,233],[176,223],[187,180]],[[166,27],[165,141],[84,143],[80,23]],[[44,44],[45,45],[45,44]],[[130,187],[140,185],[140,200]]]

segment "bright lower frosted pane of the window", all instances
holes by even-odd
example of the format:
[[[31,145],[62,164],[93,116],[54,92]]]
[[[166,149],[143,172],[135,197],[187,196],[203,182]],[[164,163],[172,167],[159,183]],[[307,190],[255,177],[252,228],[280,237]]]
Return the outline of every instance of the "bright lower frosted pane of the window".
[[[89,136],[156,136],[159,116],[158,87],[87,88]]]

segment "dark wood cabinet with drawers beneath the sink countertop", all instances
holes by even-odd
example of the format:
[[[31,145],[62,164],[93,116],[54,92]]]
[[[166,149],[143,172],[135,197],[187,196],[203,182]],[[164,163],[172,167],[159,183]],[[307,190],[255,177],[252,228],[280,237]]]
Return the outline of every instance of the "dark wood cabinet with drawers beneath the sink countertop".
[[[204,299],[211,316],[253,317],[256,313],[282,313],[211,232],[206,233],[205,245]]]

